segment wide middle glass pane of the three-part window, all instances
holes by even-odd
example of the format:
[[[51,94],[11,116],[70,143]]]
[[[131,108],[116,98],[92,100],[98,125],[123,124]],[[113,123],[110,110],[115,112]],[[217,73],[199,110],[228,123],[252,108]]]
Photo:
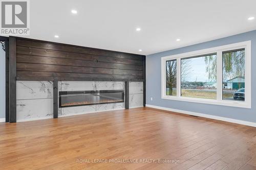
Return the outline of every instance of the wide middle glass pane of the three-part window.
[[[181,96],[217,99],[217,54],[181,59]]]

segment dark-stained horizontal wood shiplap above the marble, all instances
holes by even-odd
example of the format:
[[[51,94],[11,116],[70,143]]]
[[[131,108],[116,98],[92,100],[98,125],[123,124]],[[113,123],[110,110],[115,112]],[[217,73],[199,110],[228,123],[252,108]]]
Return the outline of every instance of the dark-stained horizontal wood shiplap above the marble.
[[[144,81],[145,56],[16,37],[17,80]]]

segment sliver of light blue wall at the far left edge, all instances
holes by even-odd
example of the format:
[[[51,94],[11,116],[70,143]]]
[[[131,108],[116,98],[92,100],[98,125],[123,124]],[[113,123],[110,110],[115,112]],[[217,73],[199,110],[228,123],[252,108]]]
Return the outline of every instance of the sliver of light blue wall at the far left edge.
[[[5,51],[0,47],[0,118],[5,118]]]

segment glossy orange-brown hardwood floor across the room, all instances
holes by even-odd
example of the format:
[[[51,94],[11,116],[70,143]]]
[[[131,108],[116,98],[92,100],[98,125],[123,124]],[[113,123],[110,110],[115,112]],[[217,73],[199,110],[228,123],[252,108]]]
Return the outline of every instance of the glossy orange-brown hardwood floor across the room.
[[[1,123],[0,169],[256,169],[256,128],[151,108]]]

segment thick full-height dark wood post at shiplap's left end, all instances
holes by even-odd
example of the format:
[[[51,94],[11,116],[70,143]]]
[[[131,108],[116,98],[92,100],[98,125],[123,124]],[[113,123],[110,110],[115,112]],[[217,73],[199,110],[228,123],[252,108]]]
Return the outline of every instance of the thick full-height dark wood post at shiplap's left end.
[[[16,37],[9,37],[9,112],[10,123],[16,122]]]

